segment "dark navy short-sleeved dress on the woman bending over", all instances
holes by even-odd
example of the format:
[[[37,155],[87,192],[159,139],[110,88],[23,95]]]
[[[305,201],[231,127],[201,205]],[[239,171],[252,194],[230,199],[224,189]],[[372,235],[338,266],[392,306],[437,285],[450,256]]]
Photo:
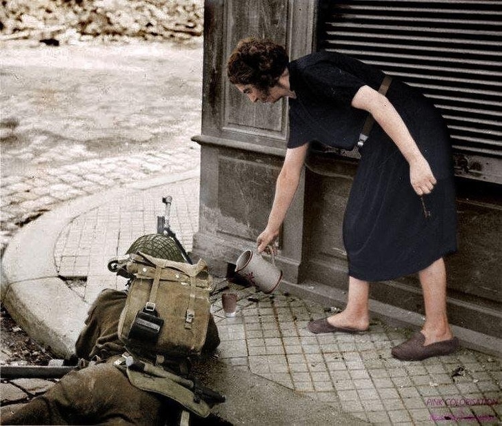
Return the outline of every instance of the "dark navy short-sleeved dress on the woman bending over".
[[[290,99],[288,148],[319,141],[352,150],[368,112],[350,103],[363,85],[378,90],[383,72],[336,52],[317,52],[288,65]],[[410,166],[374,123],[343,221],[349,274],[383,281],[423,270],[456,251],[456,207],[448,129],[434,105],[409,85],[392,80],[388,99],[432,168],[437,184],[421,197],[410,183]]]

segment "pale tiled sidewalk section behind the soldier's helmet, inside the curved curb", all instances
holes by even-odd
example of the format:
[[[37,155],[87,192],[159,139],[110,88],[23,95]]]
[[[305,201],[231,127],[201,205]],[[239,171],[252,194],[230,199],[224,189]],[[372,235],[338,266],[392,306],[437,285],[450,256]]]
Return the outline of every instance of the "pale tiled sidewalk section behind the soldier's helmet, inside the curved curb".
[[[162,197],[172,196],[170,225],[185,250],[192,250],[192,236],[199,223],[199,180],[185,181],[133,192],[75,218],[62,230],[54,251],[59,275],[71,283],[88,303],[104,288],[117,288],[121,278],[108,271],[108,259],[127,252],[132,242],[157,231],[163,216]]]

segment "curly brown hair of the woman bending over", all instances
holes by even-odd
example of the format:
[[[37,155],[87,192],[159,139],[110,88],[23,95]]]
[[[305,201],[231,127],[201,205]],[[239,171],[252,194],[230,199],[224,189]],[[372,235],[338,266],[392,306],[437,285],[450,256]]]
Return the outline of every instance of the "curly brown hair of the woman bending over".
[[[283,46],[250,37],[239,41],[230,55],[227,76],[232,84],[250,84],[265,90],[279,81],[288,62]]]

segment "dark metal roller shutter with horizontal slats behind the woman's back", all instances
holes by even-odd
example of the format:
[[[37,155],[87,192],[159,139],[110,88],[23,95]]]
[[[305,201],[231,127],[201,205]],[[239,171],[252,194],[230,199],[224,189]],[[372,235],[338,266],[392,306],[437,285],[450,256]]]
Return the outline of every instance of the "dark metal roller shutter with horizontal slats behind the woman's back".
[[[317,49],[420,88],[445,117],[456,174],[502,183],[502,1],[320,0]]]

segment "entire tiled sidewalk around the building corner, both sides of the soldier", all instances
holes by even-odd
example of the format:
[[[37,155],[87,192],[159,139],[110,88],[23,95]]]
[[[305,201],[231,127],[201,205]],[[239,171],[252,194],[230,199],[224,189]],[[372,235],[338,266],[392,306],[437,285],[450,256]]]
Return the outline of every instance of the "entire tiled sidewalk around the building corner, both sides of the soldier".
[[[197,230],[198,179],[132,192],[77,217],[62,230],[54,253],[60,276],[91,302],[105,287],[122,288],[106,260],[155,232],[161,198],[173,196],[171,225],[185,248]],[[228,288],[230,287],[230,288]],[[363,334],[308,332],[311,319],[337,307],[277,291],[269,296],[219,278],[212,310],[221,336],[219,358],[290,389],[381,425],[498,424],[502,418],[501,360],[461,349],[421,362],[397,361],[390,348],[410,334],[373,322]],[[221,292],[237,292],[239,310],[227,318]],[[477,416],[477,418],[476,418]]]

